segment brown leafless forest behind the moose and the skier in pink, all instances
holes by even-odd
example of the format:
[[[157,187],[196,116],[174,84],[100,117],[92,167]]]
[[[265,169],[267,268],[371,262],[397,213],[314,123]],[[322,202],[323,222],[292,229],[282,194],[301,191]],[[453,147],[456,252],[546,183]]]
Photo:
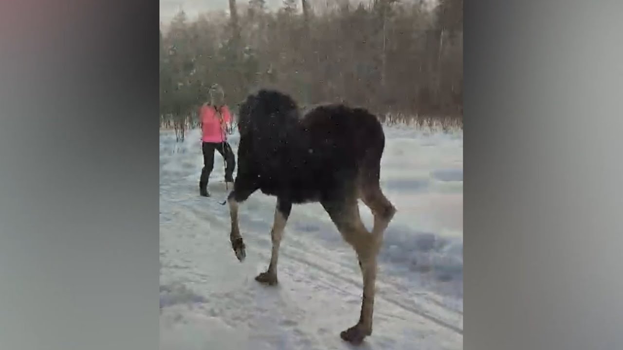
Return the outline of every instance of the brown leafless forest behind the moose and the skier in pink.
[[[223,0],[225,1],[225,0]],[[183,131],[218,83],[226,103],[277,88],[300,106],[364,106],[386,123],[462,127],[463,1],[229,0],[160,29],[160,125]]]

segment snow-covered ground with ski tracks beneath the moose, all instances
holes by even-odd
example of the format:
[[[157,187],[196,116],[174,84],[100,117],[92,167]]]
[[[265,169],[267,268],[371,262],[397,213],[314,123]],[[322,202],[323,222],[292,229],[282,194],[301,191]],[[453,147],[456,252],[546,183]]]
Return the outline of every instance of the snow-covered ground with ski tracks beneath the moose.
[[[463,348],[463,134],[386,128],[381,186],[398,212],[379,258],[374,333],[361,349]],[[231,137],[234,152],[237,135]],[[240,206],[247,259],[229,243],[226,191],[215,154],[199,197],[197,130],[184,143],[160,134],[160,349],[350,349],[361,273],[320,204],[295,206],[278,263],[279,285],[254,280],[270,258],[275,199]],[[368,227],[372,217],[361,204]]]

